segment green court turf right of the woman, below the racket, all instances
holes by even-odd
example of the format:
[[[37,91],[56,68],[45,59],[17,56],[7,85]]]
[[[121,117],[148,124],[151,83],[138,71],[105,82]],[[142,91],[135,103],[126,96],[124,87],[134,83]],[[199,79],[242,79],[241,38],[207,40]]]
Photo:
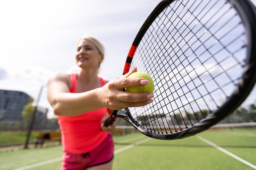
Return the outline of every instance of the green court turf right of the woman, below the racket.
[[[255,132],[256,130],[253,134]],[[247,130],[243,133],[246,134]],[[222,145],[222,148],[229,152],[236,151],[238,157],[256,165],[256,134],[249,138],[239,137],[228,130],[206,131],[198,135],[207,140],[214,139],[215,144]],[[124,163],[126,161],[130,165],[136,166],[129,167],[128,164]],[[197,136],[173,141],[153,139],[146,144],[138,145],[136,148],[116,155],[113,167],[113,170],[253,170],[253,168],[199,140]]]

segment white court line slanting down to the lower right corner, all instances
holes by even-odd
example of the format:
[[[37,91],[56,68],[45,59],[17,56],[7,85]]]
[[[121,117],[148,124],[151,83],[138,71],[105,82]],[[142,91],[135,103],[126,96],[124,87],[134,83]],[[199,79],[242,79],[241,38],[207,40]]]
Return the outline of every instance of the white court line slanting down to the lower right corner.
[[[200,137],[200,136],[197,136],[197,137],[198,137],[198,139],[200,139],[201,141],[204,141],[205,143],[207,143],[207,144],[213,146],[214,148],[220,150],[221,152],[224,152],[225,154],[227,154],[227,155],[233,157],[234,159],[236,159],[236,160],[238,160],[238,161],[240,161],[240,162],[242,162],[242,163],[245,163],[246,165],[248,165],[248,166],[250,166],[250,167],[252,167],[252,168],[254,168],[254,169],[256,170],[256,166],[253,165],[252,163],[249,163],[249,162],[245,161],[244,159],[242,159],[242,158],[240,158],[240,157],[234,155],[233,153],[231,153],[231,152],[229,152],[229,151],[227,151],[227,150],[221,148],[220,146],[218,146],[218,145],[216,145],[216,144],[213,144],[211,141],[208,141],[208,140],[204,139],[203,137]]]

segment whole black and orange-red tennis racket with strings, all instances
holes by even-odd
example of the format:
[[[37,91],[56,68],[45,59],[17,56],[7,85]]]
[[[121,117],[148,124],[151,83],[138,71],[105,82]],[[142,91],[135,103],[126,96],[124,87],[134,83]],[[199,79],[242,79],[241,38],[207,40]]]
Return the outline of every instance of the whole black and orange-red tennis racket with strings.
[[[249,0],[162,0],[126,59],[154,80],[154,102],[115,110],[155,139],[181,139],[217,124],[256,82],[256,8]]]

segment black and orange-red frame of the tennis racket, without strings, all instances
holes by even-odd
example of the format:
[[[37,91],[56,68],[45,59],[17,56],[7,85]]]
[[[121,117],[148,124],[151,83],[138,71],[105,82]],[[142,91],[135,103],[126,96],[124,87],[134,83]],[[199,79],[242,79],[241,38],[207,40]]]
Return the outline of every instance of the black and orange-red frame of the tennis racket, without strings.
[[[159,2],[159,4],[157,4],[155,9],[153,9],[150,15],[148,15],[148,18],[141,26],[141,29],[137,33],[137,36],[133,41],[132,46],[130,47],[123,74],[129,72],[132,58],[135,55],[137,46],[139,45],[146,31],[148,30],[150,24],[152,24],[152,22],[155,20],[155,18],[157,18],[162,10],[164,10],[169,4],[174,1],[175,0],[162,0],[161,2]],[[118,110],[114,110],[112,115],[108,117],[108,121],[105,122],[105,125],[108,126],[112,124],[115,119],[122,118],[128,121],[139,132],[148,137],[164,140],[182,139],[184,137],[195,135],[199,132],[202,132],[203,130],[210,128],[211,126],[217,124],[224,117],[231,114],[234,110],[236,110],[236,108],[238,108],[247,98],[256,82],[256,8],[249,0],[229,0],[229,2],[237,10],[243,20],[243,24],[245,25],[245,34],[247,37],[247,60],[243,69],[242,79],[240,79],[240,81],[238,82],[236,90],[233,92],[231,97],[229,97],[227,101],[222,104],[222,106],[214,110],[212,113],[207,115],[207,117],[200,120],[198,123],[190,127],[186,127],[185,129],[180,129],[179,131],[171,133],[153,132],[152,130],[144,128],[144,126],[140,125],[132,117],[129,108],[124,108],[125,114],[117,114]]]

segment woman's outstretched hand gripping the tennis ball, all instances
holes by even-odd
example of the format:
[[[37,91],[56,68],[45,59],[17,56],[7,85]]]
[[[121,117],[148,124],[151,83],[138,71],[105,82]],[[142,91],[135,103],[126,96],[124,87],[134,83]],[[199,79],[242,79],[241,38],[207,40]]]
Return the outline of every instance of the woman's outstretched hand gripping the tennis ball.
[[[137,71],[133,68],[129,73],[117,77],[102,87],[103,101],[106,108],[121,110],[127,107],[139,107],[152,103],[154,95],[150,93],[128,93],[123,88],[143,86],[149,84],[149,81],[143,78],[128,78],[128,76]]]

